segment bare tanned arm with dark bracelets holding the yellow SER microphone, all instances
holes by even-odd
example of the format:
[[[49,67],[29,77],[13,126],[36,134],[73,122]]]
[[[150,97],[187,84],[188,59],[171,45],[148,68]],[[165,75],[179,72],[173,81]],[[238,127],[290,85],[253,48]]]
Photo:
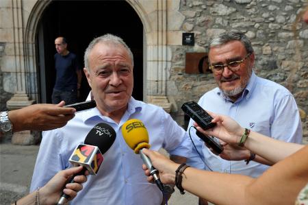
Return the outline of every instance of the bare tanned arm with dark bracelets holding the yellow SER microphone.
[[[179,164],[168,160],[162,154],[144,150],[159,171],[163,183],[175,184],[175,170]],[[301,189],[307,184],[308,146],[273,165],[259,178],[239,174],[201,171],[188,167],[183,172],[183,189],[214,204],[294,204]],[[149,169],[142,165],[147,180],[153,180]],[[268,194],[270,193],[270,195]],[[287,193],[281,195],[281,193]],[[223,197],[222,197],[223,196]]]

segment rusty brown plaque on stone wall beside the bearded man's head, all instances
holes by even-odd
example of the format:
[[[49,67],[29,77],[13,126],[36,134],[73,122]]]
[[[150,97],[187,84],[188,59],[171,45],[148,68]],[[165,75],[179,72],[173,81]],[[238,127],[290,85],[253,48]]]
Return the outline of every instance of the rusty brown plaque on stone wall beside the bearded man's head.
[[[198,74],[209,73],[209,62],[207,53],[186,53],[185,73]]]

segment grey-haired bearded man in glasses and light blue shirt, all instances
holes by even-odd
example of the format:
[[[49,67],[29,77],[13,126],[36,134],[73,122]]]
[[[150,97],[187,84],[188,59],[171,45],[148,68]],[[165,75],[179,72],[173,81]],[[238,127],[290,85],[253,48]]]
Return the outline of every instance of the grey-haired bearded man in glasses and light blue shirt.
[[[255,75],[255,53],[245,34],[231,31],[218,35],[209,42],[208,58],[209,69],[218,87],[205,93],[198,101],[203,109],[228,115],[242,127],[266,136],[302,143],[303,131],[292,93],[275,82]],[[191,119],[188,132],[194,130],[189,129],[193,123]],[[224,145],[224,151],[217,156],[196,136],[195,131],[191,134],[198,149],[196,152],[193,148],[188,158],[188,164],[193,167],[257,177],[270,165],[264,158],[242,147]],[[242,152],[236,152],[238,156],[230,156],[231,149],[242,149]],[[205,163],[198,153],[202,154]],[[201,200],[199,204],[206,202]]]

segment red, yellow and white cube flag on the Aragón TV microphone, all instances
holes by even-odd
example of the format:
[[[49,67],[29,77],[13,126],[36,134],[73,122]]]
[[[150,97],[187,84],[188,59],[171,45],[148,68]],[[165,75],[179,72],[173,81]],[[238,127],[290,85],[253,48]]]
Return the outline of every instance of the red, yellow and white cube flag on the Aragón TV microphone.
[[[69,161],[75,166],[86,167],[90,174],[97,175],[103,162],[103,155],[97,146],[80,144],[70,156]]]

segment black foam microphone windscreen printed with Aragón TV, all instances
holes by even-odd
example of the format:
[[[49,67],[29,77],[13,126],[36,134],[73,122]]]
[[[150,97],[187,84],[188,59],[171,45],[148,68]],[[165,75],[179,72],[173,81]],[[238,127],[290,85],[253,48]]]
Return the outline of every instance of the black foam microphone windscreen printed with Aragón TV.
[[[98,123],[90,130],[84,143],[99,147],[101,154],[107,152],[116,139],[116,131],[106,123]]]

